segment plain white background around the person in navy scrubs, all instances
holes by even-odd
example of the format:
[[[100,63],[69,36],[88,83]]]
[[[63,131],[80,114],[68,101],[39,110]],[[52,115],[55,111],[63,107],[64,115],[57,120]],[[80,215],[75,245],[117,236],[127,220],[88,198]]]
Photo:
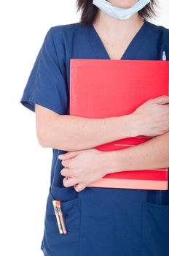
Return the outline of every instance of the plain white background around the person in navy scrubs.
[[[169,1],[159,17],[169,29]],[[1,255],[42,256],[52,148],[36,138],[35,114],[20,104],[25,83],[51,26],[79,21],[75,0],[1,2]],[[169,43],[169,42],[168,42]]]

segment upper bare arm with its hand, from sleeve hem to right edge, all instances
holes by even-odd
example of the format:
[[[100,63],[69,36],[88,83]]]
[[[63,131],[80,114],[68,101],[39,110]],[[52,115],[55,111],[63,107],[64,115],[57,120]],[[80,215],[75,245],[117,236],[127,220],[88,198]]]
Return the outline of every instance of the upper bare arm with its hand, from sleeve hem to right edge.
[[[43,147],[63,151],[93,148],[138,135],[157,136],[169,130],[169,97],[150,99],[130,115],[84,118],[59,115],[35,105],[36,131]]]

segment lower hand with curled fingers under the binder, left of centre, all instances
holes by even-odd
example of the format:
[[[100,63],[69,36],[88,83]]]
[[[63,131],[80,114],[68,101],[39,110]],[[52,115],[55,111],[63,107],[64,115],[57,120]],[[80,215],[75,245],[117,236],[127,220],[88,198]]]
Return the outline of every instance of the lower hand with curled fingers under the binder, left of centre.
[[[65,187],[74,186],[77,192],[84,189],[87,184],[96,181],[108,173],[109,166],[106,152],[96,148],[79,151],[69,151],[60,154],[64,168],[60,171]]]

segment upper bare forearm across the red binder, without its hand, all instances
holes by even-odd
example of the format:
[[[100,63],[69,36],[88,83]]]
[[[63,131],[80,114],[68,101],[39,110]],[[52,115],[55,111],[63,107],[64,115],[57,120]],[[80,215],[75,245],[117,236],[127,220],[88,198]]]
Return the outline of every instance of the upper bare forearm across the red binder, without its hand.
[[[50,118],[45,129],[43,146],[64,151],[82,150],[133,137],[132,115],[109,118],[84,118],[60,115]]]

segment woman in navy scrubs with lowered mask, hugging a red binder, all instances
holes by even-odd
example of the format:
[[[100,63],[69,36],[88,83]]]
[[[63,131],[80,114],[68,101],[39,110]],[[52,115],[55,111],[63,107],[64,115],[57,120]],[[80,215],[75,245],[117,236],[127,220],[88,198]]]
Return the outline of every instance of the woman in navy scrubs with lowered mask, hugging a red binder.
[[[45,256],[168,256],[169,190],[86,187],[110,172],[169,166],[169,97],[126,116],[69,115],[70,59],[169,58],[169,30],[150,23],[156,1],[78,0],[79,23],[47,31],[20,102],[36,113],[39,144],[52,148],[41,249]],[[93,148],[138,135],[120,151]],[[40,181],[40,177],[39,177]],[[52,206],[60,200],[67,233]]]

